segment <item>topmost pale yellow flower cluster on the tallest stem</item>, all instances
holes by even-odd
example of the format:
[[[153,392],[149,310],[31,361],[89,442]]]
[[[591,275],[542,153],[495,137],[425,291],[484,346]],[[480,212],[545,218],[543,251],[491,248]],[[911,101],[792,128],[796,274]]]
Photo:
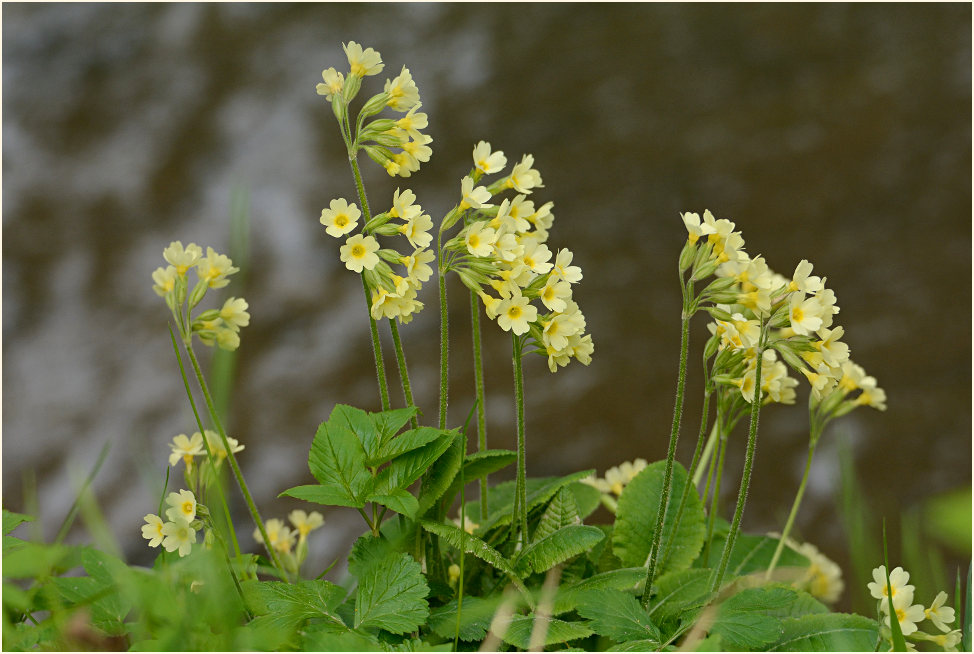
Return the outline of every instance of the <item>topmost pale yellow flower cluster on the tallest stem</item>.
[[[369,98],[360,110],[353,132],[349,123],[349,103],[358,94],[362,78],[378,75],[385,64],[378,52],[372,48],[363,49],[355,41],[349,41],[343,47],[348,57],[348,74],[326,68],[321,73],[322,82],[316,87],[318,95],[332,103],[350,152],[363,149],[390,176],[409,177],[419,170],[420,163],[429,161],[433,153],[429,147],[433,137],[420,132],[426,129],[428,117],[418,111],[422,103],[412,74],[403,66],[399,75],[387,79],[382,93]],[[395,120],[377,118],[365,123],[367,118],[387,108],[404,115]]]

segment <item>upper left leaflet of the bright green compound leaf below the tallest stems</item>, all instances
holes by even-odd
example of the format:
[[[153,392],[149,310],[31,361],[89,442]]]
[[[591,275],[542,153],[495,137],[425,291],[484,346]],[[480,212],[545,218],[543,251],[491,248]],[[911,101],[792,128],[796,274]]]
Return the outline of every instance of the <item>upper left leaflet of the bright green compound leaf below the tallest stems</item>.
[[[362,430],[372,431],[372,422],[365,412],[339,404],[328,421],[318,427],[311,443],[311,474],[322,486],[332,489],[334,497],[343,499],[340,506],[361,508],[372,489],[372,474],[365,467]],[[374,432],[370,443],[373,441]]]

